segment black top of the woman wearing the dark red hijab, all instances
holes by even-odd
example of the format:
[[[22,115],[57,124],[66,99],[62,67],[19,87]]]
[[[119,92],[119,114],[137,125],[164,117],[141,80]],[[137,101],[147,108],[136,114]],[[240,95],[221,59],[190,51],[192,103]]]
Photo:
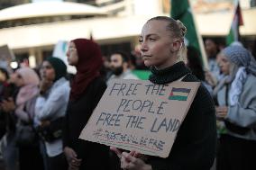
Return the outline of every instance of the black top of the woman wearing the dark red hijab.
[[[87,86],[85,93],[78,100],[69,101],[63,130],[63,147],[73,148],[78,154],[78,158],[82,158],[80,170],[108,169],[109,147],[78,139],[97,103],[104,94],[105,88],[105,82],[101,78],[96,77]]]

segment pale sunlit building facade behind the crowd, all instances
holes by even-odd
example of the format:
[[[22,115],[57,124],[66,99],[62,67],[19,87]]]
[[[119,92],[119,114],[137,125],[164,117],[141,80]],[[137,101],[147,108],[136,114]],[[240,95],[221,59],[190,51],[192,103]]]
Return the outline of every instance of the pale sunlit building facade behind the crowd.
[[[59,40],[92,37],[101,45],[104,55],[116,49],[131,51],[138,44],[144,22],[156,15],[169,15],[169,0],[90,2],[95,5],[52,2],[1,10],[0,46],[7,44],[18,60],[32,58],[35,62],[32,67],[51,56]],[[203,37],[224,37],[230,29],[232,9],[206,13],[200,10],[206,8],[204,5],[197,5],[198,32]],[[254,8],[242,10],[244,25],[241,33],[245,39],[256,37],[255,14]]]

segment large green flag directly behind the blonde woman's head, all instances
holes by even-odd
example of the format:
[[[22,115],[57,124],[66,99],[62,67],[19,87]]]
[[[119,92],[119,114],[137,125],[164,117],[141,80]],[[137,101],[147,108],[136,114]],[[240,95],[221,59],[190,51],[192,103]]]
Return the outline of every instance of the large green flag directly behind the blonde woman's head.
[[[171,17],[183,22],[187,27],[185,44],[193,46],[200,51],[202,63],[207,67],[205,47],[201,36],[197,33],[197,25],[194,22],[193,12],[188,0],[171,0]]]

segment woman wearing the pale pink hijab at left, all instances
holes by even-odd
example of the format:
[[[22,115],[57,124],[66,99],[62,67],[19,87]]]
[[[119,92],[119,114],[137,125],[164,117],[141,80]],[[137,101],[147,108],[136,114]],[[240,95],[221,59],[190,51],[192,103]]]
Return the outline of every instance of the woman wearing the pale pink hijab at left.
[[[15,115],[17,117],[17,126],[20,123],[32,124],[35,116],[34,105],[36,97],[39,94],[39,77],[36,72],[29,67],[23,67],[16,70],[15,84],[20,87],[15,101]],[[32,125],[31,125],[32,126]],[[43,169],[40,149],[34,141],[33,145],[18,145],[20,170]],[[39,167],[40,166],[40,167]]]

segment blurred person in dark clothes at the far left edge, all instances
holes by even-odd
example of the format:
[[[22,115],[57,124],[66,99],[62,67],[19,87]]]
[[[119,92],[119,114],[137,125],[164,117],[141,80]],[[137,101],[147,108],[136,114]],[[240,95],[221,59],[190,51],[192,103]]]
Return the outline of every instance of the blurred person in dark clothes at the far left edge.
[[[2,75],[3,74],[3,75]],[[19,88],[15,85],[16,73],[10,76],[5,68],[0,69],[1,82],[1,151],[4,160],[5,170],[16,170],[18,168],[18,149],[15,143],[15,99]]]

